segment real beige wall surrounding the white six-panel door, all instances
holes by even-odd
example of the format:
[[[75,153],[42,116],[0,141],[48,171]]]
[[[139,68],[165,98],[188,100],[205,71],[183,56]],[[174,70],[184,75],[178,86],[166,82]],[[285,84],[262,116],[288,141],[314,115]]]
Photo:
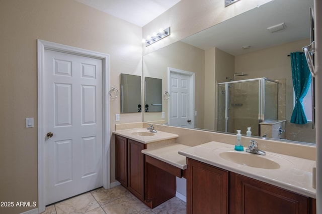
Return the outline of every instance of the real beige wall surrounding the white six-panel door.
[[[72,0],[2,0],[0,3],[0,201],[38,201],[37,39],[110,55],[110,86],[119,74],[142,74],[141,28]],[[111,102],[111,130],[119,98]],[[35,127],[25,128],[34,117]],[[122,114],[120,123],[142,121],[141,113]],[[114,173],[111,139],[111,181]],[[1,207],[21,213],[35,207]]]

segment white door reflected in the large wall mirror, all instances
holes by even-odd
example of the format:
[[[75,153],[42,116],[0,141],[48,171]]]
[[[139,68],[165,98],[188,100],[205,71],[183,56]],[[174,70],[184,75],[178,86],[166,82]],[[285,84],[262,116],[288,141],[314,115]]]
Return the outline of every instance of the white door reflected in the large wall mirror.
[[[194,73],[169,68],[169,122],[194,128]]]

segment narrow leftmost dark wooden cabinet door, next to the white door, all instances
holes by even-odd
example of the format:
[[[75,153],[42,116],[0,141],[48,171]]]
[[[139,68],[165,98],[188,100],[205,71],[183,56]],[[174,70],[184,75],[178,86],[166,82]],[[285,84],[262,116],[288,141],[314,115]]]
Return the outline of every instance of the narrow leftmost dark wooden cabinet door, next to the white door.
[[[116,135],[116,179],[125,187],[127,187],[127,139]]]

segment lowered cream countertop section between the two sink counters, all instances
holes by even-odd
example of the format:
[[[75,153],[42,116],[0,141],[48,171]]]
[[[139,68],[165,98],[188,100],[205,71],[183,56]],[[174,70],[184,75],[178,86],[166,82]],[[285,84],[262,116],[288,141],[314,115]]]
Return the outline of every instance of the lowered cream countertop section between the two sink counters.
[[[186,146],[179,143],[168,144],[162,147],[157,147],[153,149],[143,149],[141,152],[143,154],[154,157],[155,159],[162,160],[173,166],[181,169],[187,168],[187,158],[184,155],[179,154],[180,150],[185,150],[191,146]]]

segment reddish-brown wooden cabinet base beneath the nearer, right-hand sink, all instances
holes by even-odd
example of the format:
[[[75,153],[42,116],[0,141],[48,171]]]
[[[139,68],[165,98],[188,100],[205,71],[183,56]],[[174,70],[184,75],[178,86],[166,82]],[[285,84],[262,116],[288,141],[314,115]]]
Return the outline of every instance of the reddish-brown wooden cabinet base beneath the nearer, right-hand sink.
[[[187,213],[315,214],[315,199],[187,158]]]

